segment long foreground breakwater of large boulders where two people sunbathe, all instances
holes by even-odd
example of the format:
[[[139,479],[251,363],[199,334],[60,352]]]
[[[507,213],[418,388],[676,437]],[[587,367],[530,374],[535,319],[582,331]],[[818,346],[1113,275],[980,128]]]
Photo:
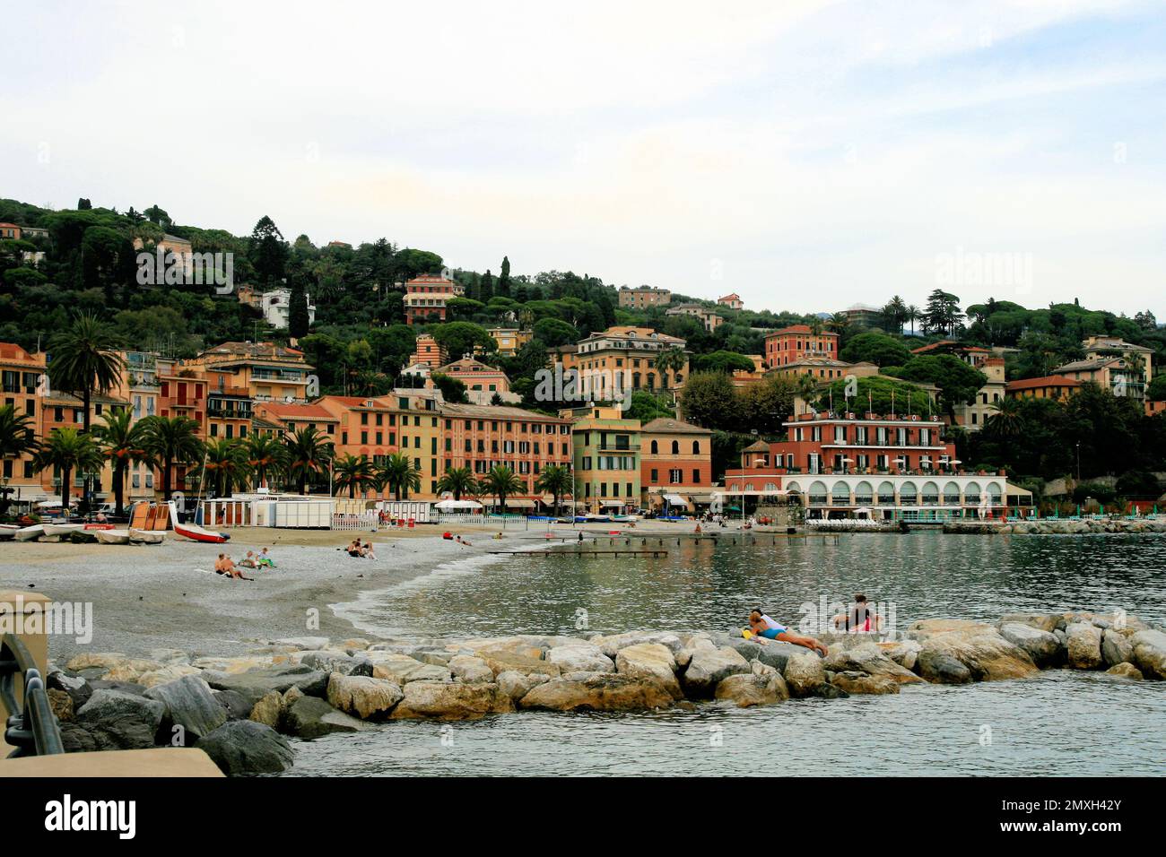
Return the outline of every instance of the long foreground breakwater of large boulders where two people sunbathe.
[[[197,746],[229,774],[292,766],[288,737],[398,719],[522,710],[642,711],[897,694],[1040,669],[1166,679],[1166,633],[1130,617],[1018,613],[995,625],[927,619],[905,639],[827,635],[827,658],[739,632],[634,631],[458,642],[255,641],[236,658],[90,653],[48,676],[69,751]]]

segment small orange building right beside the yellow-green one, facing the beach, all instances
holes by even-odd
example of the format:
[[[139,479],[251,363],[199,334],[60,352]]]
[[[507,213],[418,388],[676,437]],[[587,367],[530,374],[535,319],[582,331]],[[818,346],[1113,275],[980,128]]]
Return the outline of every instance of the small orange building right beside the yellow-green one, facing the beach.
[[[709,503],[712,486],[712,434],[680,420],[652,420],[640,430],[641,505],[683,506]],[[680,503],[682,501],[682,503]]]

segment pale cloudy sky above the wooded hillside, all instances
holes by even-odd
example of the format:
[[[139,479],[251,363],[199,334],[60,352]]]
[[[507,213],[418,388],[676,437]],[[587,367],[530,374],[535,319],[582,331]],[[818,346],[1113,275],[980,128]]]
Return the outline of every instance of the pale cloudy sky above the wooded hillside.
[[[385,237],[751,309],[1166,319],[1161,3],[140,2],[3,13],[0,197]]]

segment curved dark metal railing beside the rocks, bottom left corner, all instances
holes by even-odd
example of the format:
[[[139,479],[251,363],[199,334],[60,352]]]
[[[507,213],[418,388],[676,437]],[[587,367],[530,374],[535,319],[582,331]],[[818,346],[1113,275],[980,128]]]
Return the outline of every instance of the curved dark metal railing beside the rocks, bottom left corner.
[[[17,675],[22,679],[23,701],[16,696]],[[3,739],[15,747],[9,759],[65,751],[41,670],[15,634],[0,637],[0,703],[8,712]]]

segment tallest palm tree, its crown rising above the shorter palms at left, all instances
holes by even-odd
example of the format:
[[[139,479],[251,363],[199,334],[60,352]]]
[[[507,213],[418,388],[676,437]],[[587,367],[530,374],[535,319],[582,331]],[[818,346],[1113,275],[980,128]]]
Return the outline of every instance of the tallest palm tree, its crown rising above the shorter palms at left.
[[[112,331],[97,316],[87,312],[77,315],[66,330],[49,338],[49,382],[57,389],[80,396],[82,431],[86,435],[93,393],[108,393],[121,382],[125,360],[117,351],[119,345]],[[89,497],[87,484],[82,496]]]

